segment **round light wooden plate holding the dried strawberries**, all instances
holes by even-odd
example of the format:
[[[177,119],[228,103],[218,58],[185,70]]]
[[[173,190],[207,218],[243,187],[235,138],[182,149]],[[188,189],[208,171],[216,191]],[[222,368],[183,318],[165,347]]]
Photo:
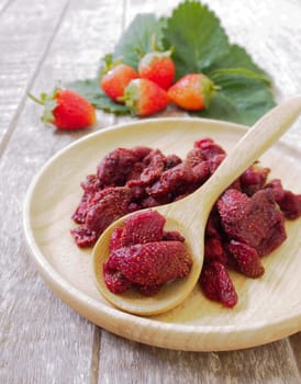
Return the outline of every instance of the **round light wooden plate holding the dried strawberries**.
[[[137,145],[185,157],[193,142],[212,137],[228,150],[245,127],[191,117],[156,118],[114,126],[75,142],[53,157],[32,182],[24,206],[24,228],[38,271],[52,290],[92,323],[125,338],[190,351],[218,351],[267,343],[301,330],[300,223],[287,222],[288,239],[263,259],[260,279],[231,276],[238,294],[233,309],[207,300],[199,287],[179,307],[140,317],[112,307],[96,287],[91,249],[79,249],[69,234],[79,187],[110,150]],[[250,143],[252,145],[252,143]],[[286,189],[301,192],[301,153],[281,142],[261,157]]]

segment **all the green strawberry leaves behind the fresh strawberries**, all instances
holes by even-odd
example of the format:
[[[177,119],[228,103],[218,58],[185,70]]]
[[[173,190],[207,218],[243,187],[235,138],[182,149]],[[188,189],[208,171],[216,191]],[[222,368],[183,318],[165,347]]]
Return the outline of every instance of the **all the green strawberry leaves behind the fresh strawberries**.
[[[112,58],[122,58],[137,69],[140,58],[152,50],[154,35],[161,50],[172,47],[177,79],[203,72],[221,88],[210,108],[198,115],[252,125],[275,105],[268,75],[243,47],[230,43],[221,21],[208,5],[186,0],[167,18],[158,19],[152,13],[136,15],[116,43]],[[101,91],[99,76],[78,80],[71,87],[98,109],[130,113]]]

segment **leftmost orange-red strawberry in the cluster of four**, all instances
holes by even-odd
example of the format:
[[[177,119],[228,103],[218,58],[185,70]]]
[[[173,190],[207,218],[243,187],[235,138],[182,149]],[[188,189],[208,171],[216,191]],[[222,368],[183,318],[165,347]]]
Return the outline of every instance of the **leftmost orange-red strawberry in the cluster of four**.
[[[112,68],[101,78],[100,87],[110,99],[115,102],[122,102],[122,99],[120,98],[123,97],[124,89],[131,80],[136,79],[137,77],[138,74],[134,68],[125,64],[113,65]]]

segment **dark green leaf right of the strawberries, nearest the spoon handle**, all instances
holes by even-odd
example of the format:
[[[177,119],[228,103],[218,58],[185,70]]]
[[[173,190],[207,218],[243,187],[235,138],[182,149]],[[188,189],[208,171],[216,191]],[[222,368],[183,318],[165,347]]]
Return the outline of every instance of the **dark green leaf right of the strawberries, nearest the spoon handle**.
[[[211,74],[221,87],[210,106],[199,116],[253,125],[275,106],[271,89],[265,77],[244,68],[220,69]]]

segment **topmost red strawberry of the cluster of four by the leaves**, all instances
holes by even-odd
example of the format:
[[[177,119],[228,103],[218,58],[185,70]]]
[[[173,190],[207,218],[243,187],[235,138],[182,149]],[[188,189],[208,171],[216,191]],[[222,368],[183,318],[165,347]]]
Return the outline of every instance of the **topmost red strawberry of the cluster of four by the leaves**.
[[[167,90],[172,84],[176,75],[170,54],[170,50],[149,52],[143,56],[138,64],[141,78],[152,80]]]

